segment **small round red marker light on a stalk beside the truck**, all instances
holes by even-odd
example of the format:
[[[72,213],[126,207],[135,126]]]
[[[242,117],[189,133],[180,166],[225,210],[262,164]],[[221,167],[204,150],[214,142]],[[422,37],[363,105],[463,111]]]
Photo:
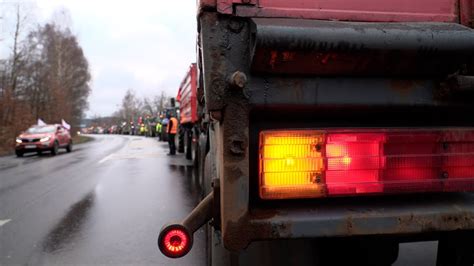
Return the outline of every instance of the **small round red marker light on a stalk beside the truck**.
[[[161,230],[158,247],[167,257],[179,258],[186,255],[192,247],[193,239],[188,230],[179,224],[173,224]]]

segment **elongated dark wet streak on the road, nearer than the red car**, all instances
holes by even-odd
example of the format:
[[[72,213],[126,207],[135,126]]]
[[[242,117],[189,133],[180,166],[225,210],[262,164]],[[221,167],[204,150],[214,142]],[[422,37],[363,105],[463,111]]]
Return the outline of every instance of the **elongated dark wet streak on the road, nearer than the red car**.
[[[63,249],[78,236],[88,218],[89,211],[94,204],[95,194],[89,193],[82,200],[71,206],[68,213],[48,233],[42,248],[44,252],[55,253]]]

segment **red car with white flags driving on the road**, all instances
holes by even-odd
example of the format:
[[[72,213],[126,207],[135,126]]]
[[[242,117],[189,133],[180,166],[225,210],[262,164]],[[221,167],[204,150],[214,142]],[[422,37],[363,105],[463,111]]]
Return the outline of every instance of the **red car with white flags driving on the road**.
[[[22,157],[27,152],[51,151],[52,155],[58,153],[59,148],[72,151],[72,138],[69,130],[62,125],[32,126],[16,138],[15,153]]]

